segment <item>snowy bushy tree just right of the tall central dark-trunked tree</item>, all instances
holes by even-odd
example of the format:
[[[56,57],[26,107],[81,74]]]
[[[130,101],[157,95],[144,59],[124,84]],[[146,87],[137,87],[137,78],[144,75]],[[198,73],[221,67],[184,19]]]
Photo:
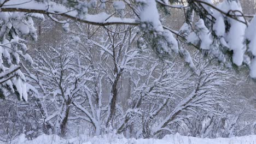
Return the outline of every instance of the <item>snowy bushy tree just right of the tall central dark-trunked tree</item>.
[[[144,70],[132,74],[136,76],[131,78],[130,106],[122,113],[118,133],[130,129],[130,133],[134,133],[131,136],[151,137],[153,125],[159,122],[166,107],[174,103],[179,92],[186,87],[188,77],[170,62],[148,59],[142,65]]]

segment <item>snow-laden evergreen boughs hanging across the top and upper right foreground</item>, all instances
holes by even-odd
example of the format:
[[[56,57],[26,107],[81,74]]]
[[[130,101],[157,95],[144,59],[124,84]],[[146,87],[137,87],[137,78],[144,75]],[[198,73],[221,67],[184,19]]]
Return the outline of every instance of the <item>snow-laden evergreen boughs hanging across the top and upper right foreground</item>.
[[[176,38],[183,39],[183,43],[210,53],[226,65],[232,63],[237,66],[248,65],[251,69],[251,77],[255,77],[253,46],[255,34],[250,28],[254,26],[254,21],[249,22],[246,19],[246,17],[252,18],[253,16],[244,15],[241,4],[237,0],[225,0],[218,4],[201,0],[133,0],[115,1],[109,4],[106,4],[106,1],[96,0],[89,2],[8,0],[2,1],[0,7],[1,11],[7,12],[46,14],[52,20],[62,23],[67,31],[69,30],[68,23],[73,20],[103,27],[108,25],[139,26],[144,39],[152,45],[159,56],[183,53],[184,50],[179,47]],[[104,12],[96,12],[104,8],[106,8]],[[161,21],[158,10],[160,8],[166,11],[181,9],[184,12],[185,23],[181,29],[184,33],[163,25],[163,23],[168,24],[168,21]],[[125,13],[126,11],[130,14]],[[59,19],[59,15],[67,19]],[[173,35],[177,37],[174,38]]]

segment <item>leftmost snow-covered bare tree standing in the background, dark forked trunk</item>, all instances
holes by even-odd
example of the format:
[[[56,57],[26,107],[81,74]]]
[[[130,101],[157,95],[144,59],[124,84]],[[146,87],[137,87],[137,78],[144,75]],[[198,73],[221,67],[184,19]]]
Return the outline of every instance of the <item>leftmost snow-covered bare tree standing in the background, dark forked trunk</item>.
[[[79,71],[78,58],[74,51],[74,41],[70,37],[62,39],[65,43],[35,49],[33,69],[24,65],[30,89],[36,101],[35,109],[42,118],[45,133],[65,136],[72,100],[78,97],[83,73]],[[33,88],[31,85],[33,85]]]

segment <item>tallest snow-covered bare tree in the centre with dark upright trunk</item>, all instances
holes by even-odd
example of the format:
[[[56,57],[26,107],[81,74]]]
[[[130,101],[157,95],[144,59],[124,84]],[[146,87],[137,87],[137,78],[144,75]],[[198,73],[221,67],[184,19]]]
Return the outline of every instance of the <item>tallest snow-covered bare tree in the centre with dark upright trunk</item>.
[[[117,33],[111,32],[110,29],[114,29],[113,31]],[[118,33],[123,29],[126,29],[125,32]],[[132,30],[133,28],[124,26],[109,27],[103,31],[103,35],[96,34],[95,39],[88,39],[90,35],[83,37],[85,40],[82,41],[86,41],[89,45],[79,42],[83,46],[82,50],[87,52],[81,57],[85,58],[85,62],[90,63],[88,70],[91,73],[94,71],[95,74],[94,82],[88,83],[89,85],[84,89],[85,98],[77,99],[74,101],[74,105],[87,117],[80,118],[92,123],[96,135],[100,134],[102,129],[107,130],[113,127],[112,123],[119,107],[118,97],[120,97],[121,79],[130,70],[138,69],[135,59],[140,59],[142,56],[133,47],[137,33]],[[102,95],[103,93],[109,95]],[[107,105],[102,104],[103,97],[109,99]],[[88,108],[85,109],[84,107]]]

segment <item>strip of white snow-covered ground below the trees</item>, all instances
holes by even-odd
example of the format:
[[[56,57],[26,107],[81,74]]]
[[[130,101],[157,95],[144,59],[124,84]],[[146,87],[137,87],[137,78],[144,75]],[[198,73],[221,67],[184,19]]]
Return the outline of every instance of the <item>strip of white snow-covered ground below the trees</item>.
[[[1,143],[1,142],[0,142]],[[3,142],[2,142],[3,143]],[[73,139],[62,139],[56,135],[41,135],[33,140],[27,140],[25,135],[20,135],[12,141],[14,144],[53,144],[53,143],[72,143],[72,144],[253,144],[256,143],[256,135],[218,138],[218,139],[200,139],[197,137],[167,135],[164,139],[125,139],[116,135],[104,135],[98,137],[79,136]]]

